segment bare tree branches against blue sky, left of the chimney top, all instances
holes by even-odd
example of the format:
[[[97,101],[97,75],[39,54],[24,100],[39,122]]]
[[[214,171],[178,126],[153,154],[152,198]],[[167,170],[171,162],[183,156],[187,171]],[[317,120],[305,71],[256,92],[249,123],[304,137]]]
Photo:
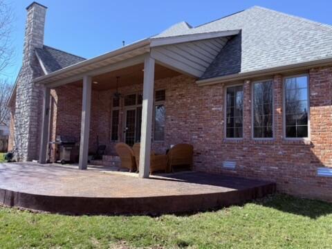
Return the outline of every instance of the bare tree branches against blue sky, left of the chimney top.
[[[14,46],[12,45],[12,24],[14,13],[11,6],[5,1],[0,0],[0,74],[12,64]]]

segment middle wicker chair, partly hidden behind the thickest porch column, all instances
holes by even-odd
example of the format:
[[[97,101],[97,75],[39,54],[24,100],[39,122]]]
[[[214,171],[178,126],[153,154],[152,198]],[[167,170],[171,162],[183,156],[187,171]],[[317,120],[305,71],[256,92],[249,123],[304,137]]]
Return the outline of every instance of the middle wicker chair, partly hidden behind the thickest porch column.
[[[133,145],[133,154],[135,155],[136,165],[140,165],[140,143],[137,142]],[[150,174],[157,171],[167,172],[167,156],[156,155],[154,151],[151,151]]]

